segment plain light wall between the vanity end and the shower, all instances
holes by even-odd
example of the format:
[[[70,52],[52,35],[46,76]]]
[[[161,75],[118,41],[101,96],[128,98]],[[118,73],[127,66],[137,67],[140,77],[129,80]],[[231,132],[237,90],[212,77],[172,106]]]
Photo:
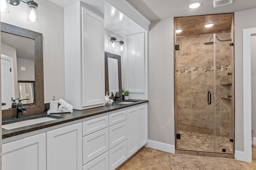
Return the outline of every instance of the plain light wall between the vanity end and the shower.
[[[148,33],[148,139],[175,146],[174,18],[155,21]]]

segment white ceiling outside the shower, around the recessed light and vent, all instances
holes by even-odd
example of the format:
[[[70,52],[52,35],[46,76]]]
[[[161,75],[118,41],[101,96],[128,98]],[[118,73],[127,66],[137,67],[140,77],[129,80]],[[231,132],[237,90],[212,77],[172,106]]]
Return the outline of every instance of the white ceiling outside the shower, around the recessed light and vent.
[[[149,21],[170,17],[224,14],[256,8],[256,0],[233,0],[232,4],[213,7],[213,0],[127,0]],[[196,9],[188,8],[191,2],[200,1]]]

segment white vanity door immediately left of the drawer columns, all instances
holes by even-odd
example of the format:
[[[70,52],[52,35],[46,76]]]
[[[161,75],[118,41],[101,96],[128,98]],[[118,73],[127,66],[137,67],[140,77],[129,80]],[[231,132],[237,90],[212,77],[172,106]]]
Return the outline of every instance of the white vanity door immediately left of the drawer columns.
[[[46,132],[47,170],[82,170],[82,123]]]

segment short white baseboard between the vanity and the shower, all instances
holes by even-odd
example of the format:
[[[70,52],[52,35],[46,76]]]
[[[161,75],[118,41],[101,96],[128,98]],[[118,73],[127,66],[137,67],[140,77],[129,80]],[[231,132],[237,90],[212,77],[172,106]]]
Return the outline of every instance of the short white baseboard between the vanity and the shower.
[[[164,152],[169,152],[173,154],[175,153],[175,146],[166,143],[148,140],[148,143],[145,146],[157,150],[162,150]]]

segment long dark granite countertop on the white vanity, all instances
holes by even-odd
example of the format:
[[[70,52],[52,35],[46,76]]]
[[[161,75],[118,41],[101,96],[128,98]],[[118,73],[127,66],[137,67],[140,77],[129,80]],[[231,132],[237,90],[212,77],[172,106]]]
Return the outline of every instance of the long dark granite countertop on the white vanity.
[[[62,123],[67,123],[67,122],[75,121],[75,120],[78,120],[78,119],[84,119],[86,117],[99,115],[99,114],[102,114],[102,113],[115,111],[115,110],[118,110],[118,109],[130,107],[130,106],[136,106],[138,104],[148,102],[148,100],[136,100],[136,101],[137,102],[133,102],[132,104],[119,104],[120,103],[120,101],[119,101],[119,102],[114,102],[112,105],[106,105],[106,106],[102,106],[102,107],[95,107],[95,108],[92,108],[92,109],[73,110],[73,113],[54,113],[54,114],[50,114],[50,115],[54,115],[54,116],[58,116],[58,117],[62,117],[62,118],[52,120],[52,121],[47,121],[47,122],[44,122],[44,123],[38,123],[38,124],[34,124],[34,125],[19,127],[19,128],[16,128],[16,129],[7,130],[7,129],[2,128],[2,139],[8,138],[8,137],[13,137],[13,136],[20,135],[20,134],[23,134],[23,133],[28,133],[28,132],[44,129],[44,128],[47,128],[47,127],[52,127],[52,126],[55,126],[55,125],[60,125]],[[47,114],[47,112],[42,113],[42,114]],[[32,115],[32,116],[35,116],[35,115]],[[32,117],[32,116],[30,115],[30,116],[27,116],[27,117]],[[22,119],[24,119],[24,118],[22,118]]]

